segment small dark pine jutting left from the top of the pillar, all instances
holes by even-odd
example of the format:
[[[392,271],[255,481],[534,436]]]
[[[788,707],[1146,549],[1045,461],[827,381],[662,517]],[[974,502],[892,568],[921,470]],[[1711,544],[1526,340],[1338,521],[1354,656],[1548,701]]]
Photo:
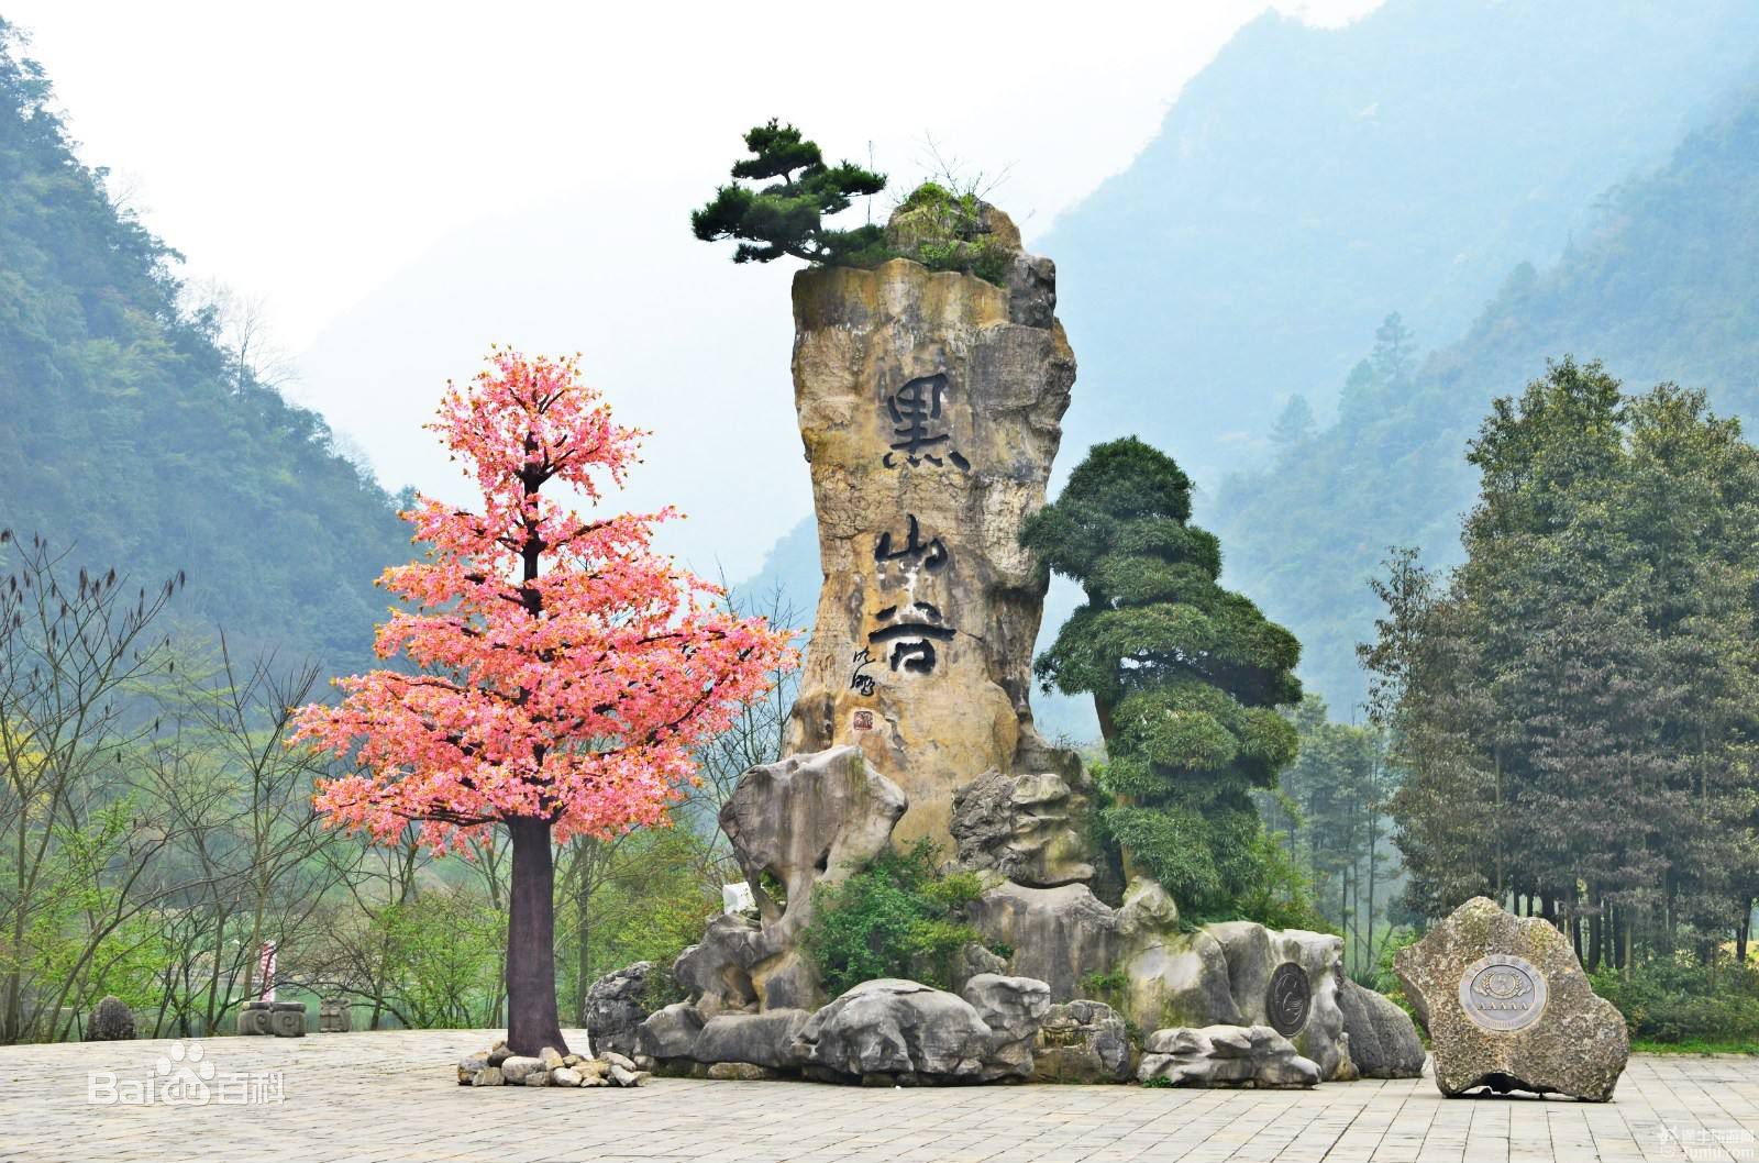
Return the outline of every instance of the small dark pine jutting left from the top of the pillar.
[[[825,165],[818,144],[774,118],[746,132],[753,157],[734,162],[734,178],[769,181],[751,188],[737,181],[690,215],[691,232],[705,243],[739,239],[734,262],[770,262],[783,255],[827,266],[864,266],[885,252],[885,230],[867,223],[834,230],[823,223],[851,201],[885,190],[885,174],[850,162]]]

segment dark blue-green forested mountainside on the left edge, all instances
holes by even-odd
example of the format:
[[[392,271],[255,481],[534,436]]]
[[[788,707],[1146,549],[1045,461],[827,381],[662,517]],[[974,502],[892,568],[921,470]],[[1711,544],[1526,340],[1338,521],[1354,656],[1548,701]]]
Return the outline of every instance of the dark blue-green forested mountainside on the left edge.
[[[176,260],[74,157],[0,21],[0,526],[148,588],[183,570],[174,616],[357,663],[405,526],[213,310],[179,310]]]

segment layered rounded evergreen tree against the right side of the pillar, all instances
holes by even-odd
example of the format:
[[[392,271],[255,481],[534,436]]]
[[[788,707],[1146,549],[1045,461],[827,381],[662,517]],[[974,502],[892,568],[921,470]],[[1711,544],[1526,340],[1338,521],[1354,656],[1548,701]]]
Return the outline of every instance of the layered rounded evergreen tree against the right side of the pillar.
[[[1096,445],[1022,542],[1087,591],[1036,672],[1094,699],[1106,827],[1187,913],[1224,917],[1263,889],[1252,794],[1295,758],[1277,707],[1300,700],[1300,644],[1217,584],[1221,545],[1189,521],[1184,472],[1126,438]]]

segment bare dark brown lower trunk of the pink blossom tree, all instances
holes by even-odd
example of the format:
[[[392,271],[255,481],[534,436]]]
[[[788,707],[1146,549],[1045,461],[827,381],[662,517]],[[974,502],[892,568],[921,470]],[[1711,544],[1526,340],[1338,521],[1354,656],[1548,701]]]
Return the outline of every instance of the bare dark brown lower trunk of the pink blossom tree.
[[[568,1054],[556,1010],[556,866],[547,820],[507,820],[514,838],[514,889],[507,918],[507,1045],[536,1056]]]

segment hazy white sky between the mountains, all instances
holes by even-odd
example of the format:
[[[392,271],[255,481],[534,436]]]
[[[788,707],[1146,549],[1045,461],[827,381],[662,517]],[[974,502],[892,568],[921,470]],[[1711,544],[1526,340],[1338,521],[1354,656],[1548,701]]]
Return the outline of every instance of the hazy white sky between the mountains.
[[[1377,4],[1275,7],[1339,23]],[[290,394],[387,487],[447,491],[419,424],[487,340],[584,348],[619,413],[658,429],[637,503],[746,521],[714,547],[739,575],[806,496],[788,273],[723,269],[686,229],[739,134],[783,116],[827,153],[871,148],[901,192],[932,134],[967,172],[1004,174],[994,197],[1031,238],[1266,7],[11,0],[5,18],[83,158],[188,276],[264,304]],[[749,426],[746,463],[691,472],[728,426]]]

